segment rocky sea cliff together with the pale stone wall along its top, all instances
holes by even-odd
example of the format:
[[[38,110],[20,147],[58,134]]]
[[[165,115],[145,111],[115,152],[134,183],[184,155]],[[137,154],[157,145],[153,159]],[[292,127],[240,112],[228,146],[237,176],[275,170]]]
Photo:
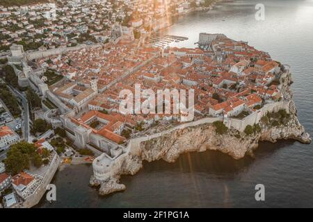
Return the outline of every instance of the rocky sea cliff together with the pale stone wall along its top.
[[[220,135],[212,124],[214,121],[223,120],[223,117],[207,117],[184,123],[161,133],[131,139],[125,153],[110,162],[106,168],[102,169],[98,164],[103,156],[94,160],[94,176],[90,178],[90,185],[100,185],[99,194],[101,195],[124,190],[126,189],[125,185],[119,183],[120,176],[134,175],[141,169],[144,160],[152,162],[163,159],[167,162],[174,162],[182,153],[206,150],[220,151],[238,160],[247,154],[252,155],[261,141],[277,142],[278,139],[296,139],[309,144],[312,141],[310,135],[305,133],[305,129],[299,123],[296,106],[291,100],[292,94],[289,89],[289,85],[292,83],[291,76],[288,72],[283,77],[284,81],[280,85],[280,89],[284,99],[266,105],[257,114],[250,115],[243,120],[231,119],[232,123],[228,123],[230,127],[227,133]],[[282,108],[289,113],[287,123],[280,126],[261,123],[261,132],[251,135],[243,133],[246,125],[253,125],[267,112],[276,112]]]

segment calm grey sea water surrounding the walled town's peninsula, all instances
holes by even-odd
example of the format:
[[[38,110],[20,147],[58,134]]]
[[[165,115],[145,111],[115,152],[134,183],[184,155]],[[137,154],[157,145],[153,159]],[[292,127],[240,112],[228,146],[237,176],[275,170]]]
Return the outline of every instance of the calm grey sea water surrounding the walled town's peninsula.
[[[250,6],[250,1],[243,6],[247,4]],[[298,5],[300,3],[296,4],[296,6]],[[293,6],[291,5],[291,8]],[[293,8],[297,8],[296,6]],[[250,11],[234,10],[234,12],[230,12],[230,18],[226,21],[230,21],[231,24],[237,22],[237,20],[234,21],[239,17],[237,12],[241,12],[240,15],[250,15]],[[290,15],[293,15],[292,12],[290,9]],[[206,12],[200,13],[206,14]],[[196,13],[192,13],[191,16],[194,17],[194,14]],[[268,15],[271,15],[269,10]],[[221,17],[223,15],[210,19],[214,24],[214,31],[217,29],[216,26],[220,26],[220,29],[230,27],[230,25],[226,25],[227,22],[221,21]],[[284,21],[288,21],[286,16],[283,18]],[[182,21],[184,23],[182,28],[179,26],[176,29],[173,26],[175,27],[175,34],[182,35],[181,30],[184,30],[186,22],[189,21],[202,22],[197,17]],[[273,20],[273,24],[278,28],[278,35],[283,36],[282,33],[287,35],[285,41],[290,42],[290,44],[286,46],[284,46],[284,41],[278,42],[275,37],[268,34],[255,36],[251,33],[248,40],[254,42],[257,49],[264,49],[271,53],[273,58],[291,65],[292,76],[295,80],[291,88],[298,109],[298,119],[305,126],[307,132],[312,135],[312,119],[310,119],[312,116],[312,110],[310,110],[312,98],[307,96],[312,92],[310,89],[312,65],[307,63],[310,62],[307,58],[312,56],[310,53],[303,52],[305,51],[303,49],[306,48],[305,45],[312,41],[306,41],[302,35],[301,37],[298,35],[291,37],[295,33],[309,34],[310,32],[301,32],[299,29],[303,26],[294,29],[294,31],[282,32],[280,28],[286,23],[278,24],[277,21]],[[250,24],[249,27],[254,27],[257,22],[247,22],[247,24]],[[260,25],[260,28],[264,30],[263,33],[270,33],[271,28],[264,28],[264,26]],[[199,29],[202,27],[200,26]],[[245,35],[248,35],[250,30],[254,30],[254,28],[246,29],[247,31],[240,35],[236,35],[236,31],[230,31],[230,34],[235,36],[234,38],[237,40],[246,40]],[[170,30],[171,28],[169,28],[169,32],[171,32]],[[223,31],[215,32],[223,33]],[[263,40],[259,40],[261,37]],[[268,41],[264,41],[266,37],[268,37]],[[192,37],[191,39],[193,40]],[[196,41],[192,41],[191,46],[193,42]],[[296,44],[297,42],[300,44]],[[294,50],[295,47],[298,50]],[[307,187],[312,185],[312,169],[309,167],[310,162],[312,162],[310,158],[312,157],[312,144],[300,144],[293,139],[281,139],[275,144],[260,141],[256,151],[251,152],[251,154],[255,154],[255,157],[250,158],[250,153],[247,153],[243,159],[234,160],[229,155],[220,152],[206,151],[204,153],[191,152],[179,155],[179,159],[175,160],[175,163],[168,163],[163,160],[143,161],[143,167],[136,176],[121,177],[121,182],[127,186],[125,192],[107,196],[99,196],[97,192],[99,187],[91,189],[88,187],[90,175],[93,174],[91,166],[68,166],[65,171],[56,175],[54,181],[58,186],[58,195],[62,199],[50,204],[45,198],[42,198],[40,207],[69,207],[73,205],[76,207],[307,207],[311,205],[312,194]],[[86,170],[82,171],[82,169]],[[254,196],[252,185],[258,182],[271,186],[271,192],[266,194],[264,205],[249,201]],[[70,192],[68,190],[70,184],[79,191]],[[227,199],[225,197],[226,189],[230,191],[230,196],[227,196]],[[286,194],[293,195],[286,198]]]

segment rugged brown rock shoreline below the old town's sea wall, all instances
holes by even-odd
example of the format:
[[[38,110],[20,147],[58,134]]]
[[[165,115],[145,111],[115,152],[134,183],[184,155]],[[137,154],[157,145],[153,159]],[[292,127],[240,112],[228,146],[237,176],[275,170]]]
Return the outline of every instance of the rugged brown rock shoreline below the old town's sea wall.
[[[152,162],[163,159],[167,162],[175,162],[183,153],[207,150],[220,151],[239,160],[245,155],[253,155],[259,142],[275,143],[280,139],[294,139],[310,144],[312,139],[298,121],[296,106],[292,101],[289,87],[292,80],[289,71],[281,78],[281,83],[284,99],[289,101],[289,121],[284,125],[273,127],[263,124],[261,132],[252,135],[245,135],[235,129],[229,129],[226,134],[219,135],[212,123],[178,129],[161,137],[141,142],[140,148],[134,150],[130,148],[113,163],[111,174],[106,180],[99,181],[91,176],[90,185],[100,186],[100,195],[125,190],[126,186],[119,183],[120,176],[137,173],[143,167],[143,160]]]

